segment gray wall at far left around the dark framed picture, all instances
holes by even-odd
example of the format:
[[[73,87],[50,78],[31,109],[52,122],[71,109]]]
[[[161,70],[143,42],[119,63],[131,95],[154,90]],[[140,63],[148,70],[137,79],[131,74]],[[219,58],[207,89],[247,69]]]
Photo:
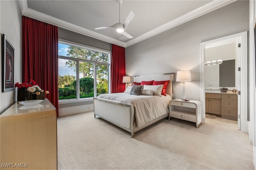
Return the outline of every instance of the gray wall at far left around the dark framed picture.
[[[14,47],[14,83],[22,83],[21,69],[21,10],[18,1],[0,1],[0,33],[6,35]],[[1,43],[1,42],[0,42]],[[1,44],[2,46],[2,44]],[[1,50],[2,55],[2,50]],[[0,60],[2,65],[2,60]],[[1,67],[2,68],[2,67]],[[1,70],[2,72],[2,70]],[[2,74],[0,74],[0,113],[4,112],[16,101],[17,88],[14,91],[2,93]]]

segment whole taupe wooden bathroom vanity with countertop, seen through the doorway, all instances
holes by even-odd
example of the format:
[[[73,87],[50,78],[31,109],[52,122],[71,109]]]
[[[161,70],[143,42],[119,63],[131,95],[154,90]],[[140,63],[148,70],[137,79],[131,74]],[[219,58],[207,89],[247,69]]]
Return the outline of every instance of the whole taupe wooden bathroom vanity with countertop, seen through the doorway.
[[[205,112],[237,121],[237,93],[206,92]]]

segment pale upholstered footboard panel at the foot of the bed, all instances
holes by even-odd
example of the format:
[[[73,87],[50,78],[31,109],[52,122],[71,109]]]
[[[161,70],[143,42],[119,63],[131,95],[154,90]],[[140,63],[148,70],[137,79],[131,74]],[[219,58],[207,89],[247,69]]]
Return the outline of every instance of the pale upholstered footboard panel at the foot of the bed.
[[[131,105],[108,99],[94,99],[94,117],[98,116],[131,132],[134,136],[134,108]]]

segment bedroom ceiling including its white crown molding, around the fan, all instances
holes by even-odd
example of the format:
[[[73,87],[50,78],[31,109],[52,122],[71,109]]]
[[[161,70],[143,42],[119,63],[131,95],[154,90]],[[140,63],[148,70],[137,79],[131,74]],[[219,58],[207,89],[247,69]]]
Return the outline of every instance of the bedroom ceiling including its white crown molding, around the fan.
[[[114,28],[94,30],[119,22],[116,0],[20,0],[20,6],[24,16],[128,47],[234,1],[123,0],[120,22],[130,11],[135,14],[125,30],[134,38],[126,41],[119,40],[123,35]]]

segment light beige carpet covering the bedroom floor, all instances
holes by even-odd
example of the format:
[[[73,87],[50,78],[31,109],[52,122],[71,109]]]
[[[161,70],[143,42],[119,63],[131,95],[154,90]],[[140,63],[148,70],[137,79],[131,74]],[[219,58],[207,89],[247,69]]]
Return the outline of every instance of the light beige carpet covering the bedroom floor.
[[[164,119],[131,138],[93,112],[58,118],[58,169],[254,169],[248,134],[217,117]]]

